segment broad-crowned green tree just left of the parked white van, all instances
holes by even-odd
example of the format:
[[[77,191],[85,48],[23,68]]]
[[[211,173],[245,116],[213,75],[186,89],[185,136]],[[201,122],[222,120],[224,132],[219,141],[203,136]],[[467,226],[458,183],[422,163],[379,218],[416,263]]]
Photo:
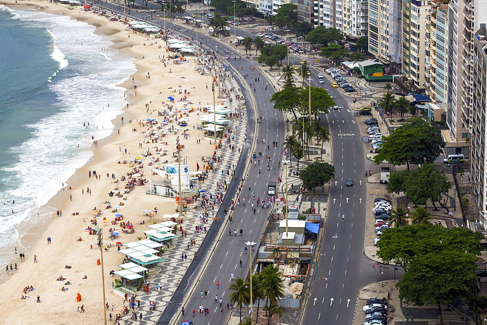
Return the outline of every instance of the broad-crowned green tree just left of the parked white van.
[[[410,163],[419,165],[434,162],[442,154],[441,148],[446,145],[440,131],[419,117],[409,119],[385,140],[386,143],[382,144],[374,162],[407,163],[408,169]],[[405,161],[394,159],[403,157]]]

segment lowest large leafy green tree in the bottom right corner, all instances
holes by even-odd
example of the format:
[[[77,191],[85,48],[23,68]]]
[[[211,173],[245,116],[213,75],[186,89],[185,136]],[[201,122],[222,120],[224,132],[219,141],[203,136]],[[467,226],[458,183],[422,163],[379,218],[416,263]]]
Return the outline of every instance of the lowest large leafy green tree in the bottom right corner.
[[[382,240],[382,239],[381,239]],[[466,298],[473,289],[477,256],[448,247],[440,252],[416,256],[409,271],[396,284],[399,298],[414,306],[436,305],[442,322],[441,305]]]

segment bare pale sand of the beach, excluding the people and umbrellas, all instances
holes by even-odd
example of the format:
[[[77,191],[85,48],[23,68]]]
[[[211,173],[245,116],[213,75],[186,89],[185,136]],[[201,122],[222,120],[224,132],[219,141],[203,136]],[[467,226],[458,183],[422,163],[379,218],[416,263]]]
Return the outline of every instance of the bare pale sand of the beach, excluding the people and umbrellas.
[[[137,85],[137,95],[133,96],[129,108],[122,115],[124,125],[121,125],[120,117],[113,121],[116,127],[112,136],[99,141],[98,147],[94,148],[94,157],[67,181],[67,184],[71,185],[73,189],[65,188],[48,203],[48,205],[62,210],[62,216],[53,216],[52,222],[42,231],[40,239],[26,255],[25,262],[13,261],[19,265],[19,271],[0,286],[2,293],[0,295],[0,317],[4,324],[100,324],[103,318],[103,298],[101,269],[96,263],[96,260],[100,258],[100,252],[95,246],[93,249],[90,248],[91,245],[95,244],[96,236],[88,235],[84,231],[86,224],[83,219],[89,224],[90,218],[94,215],[92,209],[96,206],[103,209],[102,217],[105,216],[112,220],[114,214],[111,213],[111,209],[104,209],[103,202],[111,199],[112,205],[119,202],[125,203],[118,209],[118,212],[125,216],[125,220],[130,220],[134,224],[136,229],[134,234],[121,233],[118,240],[111,241],[108,238],[108,229],[116,226],[112,226],[111,223],[103,223],[101,222],[102,218],[98,218],[98,225],[103,229],[104,242],[113,245],[116,241],[126,243],[138,240],[137,237],[143,236],[141,232],[148,230],[146,227],[148,217],[142,213],[143,210],[153,211],[154,207],[157,207],[159,218],[164,214],[175,213],[177,204],[174,199],[146,195],[145,186],[137,186],[130,194],[124,195],[128,198],[126,201],[115,197],[109,198],[107,193],[114,190],[116,184],[112,183],[111,177],[107,179],[106,174],[111,175],[113,173],[119,179],[120,176],[131,171],[129,164],[119,164],[119,161],[133,160],[143,150],[147,150],[147,147],[151,147],[151,152],[155,153],[152,147],[158,144],[143,144],[143,149],[139,148],[139,143],[144,140],[144,134],[141,132],[147,127],[139,127],[137,121],[145,121],[146,118],[162,120],[157,116],[157,111],[164,110],[161,102],[167,101],[167,97],[170,95],[174,95],[177,99],[184,95],[184,93],[183,95],[171,93],[169,87],[187,89],[191,92],[190,95],[187,95],[188,100],[195,104],[188,105],[188,108],[203,107],[207,103],[210,105],[213,103],[211,87],[206,89],[206,84],[211,85],[212,77],[200,75],[194,71],[194,62],[183,65],[168,65],[165,68],[164,64],[160,62],[159,56],[162,57],[167,52],[164,49],[158,49],[156,45],[149,46],[150,41],[154,42],[154,39],[148,41],[146,37],[125,31],[125,26],[120,22],[112,22],[92,13],[80,14],[75,10],[68,10],[63,6],[46,1],[15,4],[15,0],[8,0],[5,3],[11,3],[9,6],[14,9],[44,6],[43,10],[47,12],[69,15],[89,22],[98,27],[97,33],[115,37],[112,48],[118,49],[122,55],[130,55],[136,58],[137,72],[133,75],[134,81],[132,82],[130,78],[122,85],[128,89],[128,98],[130,93],[134,94],[133,85]],[[144,42],[146,46],[143,45]],[[159,40],[159,44],[165,45],[165,42]],[[145,59],[141,59],[142,55]],[[169,68],[172,71],[170,74],[168,73]],[[150,79],[146,78],[148,72],[150,72]],[[186,78],[181,78],[183,76]],[[192,87],[195,88],[192,89]],[[147,113],[145,107],[145,104],[150,103],[150,101],[152,102],[150,104],[152,114]],[[221,101],[217,102],[217,105],[220,103]],[[182,109],[183,104],[184,102],[176,102],[174,105],[176,108]],[[129,120],[131,123],[128,123]],[[214,149],[213,145],[203,140],[203,131],[192,128],[193,123],[199,122],[201,121],[198,120],[197,112],[190,113],[187,126],[190,134],[189,139],[183,140],[183,137],[180,137],[181,143],[186,145],[183,156],[187,157],[190,169],[194,171],[196,170],[196,161],[200,160],[202,156],[211,156]],[[137,131],[131,131],[132,128],[136,128]],[[120,134],[118,134],[118,129]],[[179,134],[181,133],[179,132]],[[168,156],[166,156],[168,160],[170,160],[170,153],[175,150],[175,137],[168,135],[164,138],[169,145],[159,144],[160,148],[169,151]],[[202,139],[201,144],[196,144],[197,139]],[[128,154],[121,156],[119,146],[123,149],[126,148]],[[144,158],[144,178],[149,180],[148,163],[149,159]],[[200,167],[203,167],[201,161]],[[89,178],[89,170],[96,170],[97,174],[101,176],[101,180],[96,180],[93,176]],[[87,187],[92,191],[91,196],[86,192]],[[84,195],[81,193],[82,189],[85,191]],[[119,189],[122,193],[124,192],[123,185]],[[72,201],[69,199],[70,195],[73,196]],[[79,216],[71,216],[71,213],[74,212],[79,212]],[[139,225],[139,222],[144,219],[146,219],[146,225]],[[50,245],[47,244],[46,240],[49,236],[52,238]],[[80,236],[83,241],[76,241]],[[24,241],[26,245],[33,244],[29,243],[29,238],[25,238]],[[33,263],[34,255],[37,255],[38,263]],[[108,276],[108,272],[118,270],[117,265],[121,264],[122,260],[123,255],[117,253],[114,245],[108,253],[104,253],[107,302],[110,306],[115,306],[112,312],[113,316],[120,311],[123,299],[111,292],[113,278]],[[70,265],[72,268],[65,269],[65,265]],[[64,282],[56,281],[60,275],[72,283],[65,286],[69,288],[67,292],[60,290]],[[83,280],[84,275],[87,275],[88,279]],[[27,294],[30,299],[21,300],[22,289],[31,285],[35,290]],[[76,302],[77,293],[82,295],[82,301],[79,303]],[[41,298],[40,304],[36,303],[37,295]],[[76,312],[76,308],[81,305],[84,305],[85,313]]]

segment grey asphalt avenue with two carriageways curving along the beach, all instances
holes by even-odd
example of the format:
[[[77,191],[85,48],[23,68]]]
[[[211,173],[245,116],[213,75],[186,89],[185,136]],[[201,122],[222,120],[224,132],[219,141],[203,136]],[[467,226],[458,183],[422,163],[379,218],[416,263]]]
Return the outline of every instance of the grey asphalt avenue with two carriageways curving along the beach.
[[[120,11],[117,5],[107,3],[103,5],[110,10]],[[146,13],[135,13],[132,11],[131,18],[144,19],[147,16]],[[162,25],[160,22],[150,22]],[[176,21],[175,23],[182,24],[181,21]],[[172,23],[168,24],[168,27],[171,25]],[[182,29],[179,33],[196,39],[195,32],[191,29],[187,32],[186,29]],[[237,35],[252,36],[250,32],[242,29],[237,29]],[[199,40],[201,39],[202,37],[200,36]],[[211,37],[204,36],[204,39],[206,42],[202,42],[202,46],[215,51],[216,45],[218,45],[222,57],[225,55],[238,55],[235,49],[228,48]],[[225,51],[230,51],[231,54],[225,54]],[[223,59],[223,62],[225,62],[225,59]],[[207,236],[206,242],[200,248],[200,250],[205,252],[200,252],[199,255],[204,256],[215,245],[211,259],[205,268],[192,264],[158,324],[169,324],[172,315],[180,315],[181,303],[185,298],[187,298],[187,302],[184,307],[187,314],[186,316],[180,315],[175,324],[181,324],[181,321],[187,319],[187,315],[191,313],[193,308],[198,310],[200,304],[209,308],[209,316],[205,317],[197,312],[197,316],[193,320],[198,319],[198,323],[205,324],[223,324],[229,316],[229,312],[226,310],[226,303],[229,301],[228,296],[231,293],[228,290],[231,283],[231,273],[233,272],[235,277],[244,277],[248,273],[249,256],[244,254],[244,243],[249,240],[259,243],[262,237],[263,226],[267,221],[269,211],[256,205],[257,213],[254,215],[251,212],[251,203],[256,203],[257,197],[266,199],[268,197],[265,194],[267,182],[276,181],[278,175],[280,175],[278,162],[282,160],[280,147],[284,141],[285,122],[283,115],[281,113],[276,114],[272,104],[269,102],[274,90],[272,90],[272,87],[268,87],[268,90],[265,90],[264,83],[269,81],[265,79],[263,74],[259,74],[259,70],[252,69],[254,62],[242,58],[237,61],[233,59],[228,60],[225,63],[230,67],[230,70],[233,69],[233,64],[238,65],[239,68],[243,67],[242,71],[234,71],[237,74],[250,75],[245,80],[243,78],[240,79],[244,95],[247,98],[250,123],[247,143],[244,145],[243,155],[236,170],[238,179],[240,177],[245,178],[245,175],[248,174],[248,179],[244,182],[244,190],[241,194],[241,200],[245,196],[246,205],[243,206],[241,204],[233,211],[233,222],[225,225],[221,238],[216,236],[216,231],[212,232],[213,238]],[[329,128],[332,135],[336,181],[332,182],[330,186],[327,218],[324,223],[324,229],[321,232],[321,245],[301,323],[352,324],[358,290],[364,285],[378,280],[377,273],[372,274],[370,272],[370,261],[362,254],[367,206],[367,184],[364,178],[364,171],[372,169],[372,163],[364,159],[360,129],[353,112],[347,109],[349,107],[347,99],[342,95],[341,90],[330,87],[331,82],[329,80],[325,81],[325,84],[318,84],[318,78],[316,77],[318,70],[312,67],[311,71],[315,79],[312,80],[312,85],[322,87],[333,94],[337,105],[343,108],[331,110],[326,116],[320,116],[324,126]],[[324,73],[323,71],[319,72]],[[255,78],[260,78],[260,81],[256,82]],[[250,83],[255,83],[256,86],[250,87]],[[270,85],[271,83],[269,82]],[[253,91],[254,88],[256,89],[255,92]],[[253,100],[250,100],[250,97],[253,97]],[[256,115],[253,113],[254,108]],[[266,118],[258,125],[257,133],[255,138],[253,138],[255,118],[260,115]],[[266,139],[267,143],[262,144],[260,139]],[[267,145],[272,144],[273,141],[279,143],[278,148],[270,145],[271,150],[267,150]],[[253,145],[255,145],[255,148],[252,148]],[[264,155],[271,155],[271,171],[267,171],[265,168],[265,161],[261,162],[262,172],[260,174],[258,167],[248,166],[249,155],[252,152],[259,151],[262,151]],[[263,157],[261,157],[262,160],[264,160]],[[273,168],[276,168],[276,174],[273,173]],[[347,178],[354,180],[354,186],[345,186]],[[229,205],[231,197],[236,193],[238,184],[239,180],[230,183],[224,204]],[[250,186],[250,190],[248,190],[248,186]],[[255,193],[256,199],[252,199],[253,193]],[[225,219],[225,216],[221,215],[222,213],[220,211],[218,215],[220,220]],[[345,216],[344,221],[342,221],[343,215]],[[219,227],[222,226],[221,223]],[[240,236],[237,234],[237,236],[234,236],[234,231],[241,228],[244,230],[244,235]],[[228,235],[228,229],[230,229],[230,235]],[[240,259],[243,262],[242,267],[240,267]],[[196,281],[193,288],[186,285],[194,280]],[[220,282],[220,288],[217,288],[217,281]],[[202,299],[200,292],[205,290],[208,292],[208,296],[206,299]],[[223,299],[223,315],[220,312],[219,304],[214,301],[215,295],[218,296],[218,299]]]

